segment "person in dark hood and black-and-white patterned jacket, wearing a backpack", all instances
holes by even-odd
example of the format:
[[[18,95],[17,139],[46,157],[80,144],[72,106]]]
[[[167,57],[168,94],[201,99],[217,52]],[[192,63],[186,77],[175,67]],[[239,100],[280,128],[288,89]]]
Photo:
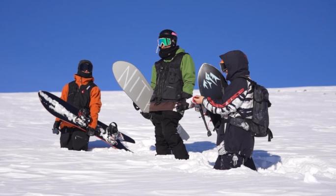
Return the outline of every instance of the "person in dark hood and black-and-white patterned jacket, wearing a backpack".
[[[230,169],[245,165],[256,170],[252,160],[254,137],[250,132],[226,123],[229,118],[252,119],[253,90],[252,84],[241,76],[250,78],[247,56],[239,51],[230,51],[221,55],[221,69],[226,73],[230,84],[225,88],[221,101],[213,101],[210,97],[196,95],[193,101],[216,114],[221,114],[221,125],[218,131],[218,158],[215,169]],[[226,128],[224,129],[224,124]]]

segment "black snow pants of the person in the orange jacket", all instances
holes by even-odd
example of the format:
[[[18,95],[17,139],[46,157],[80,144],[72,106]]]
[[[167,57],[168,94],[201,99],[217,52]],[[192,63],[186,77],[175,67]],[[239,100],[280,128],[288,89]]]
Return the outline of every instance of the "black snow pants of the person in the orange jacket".
[[[69,150],[87,151],[89,136],[78,128],[64,127],[60,130],[60,146]]]

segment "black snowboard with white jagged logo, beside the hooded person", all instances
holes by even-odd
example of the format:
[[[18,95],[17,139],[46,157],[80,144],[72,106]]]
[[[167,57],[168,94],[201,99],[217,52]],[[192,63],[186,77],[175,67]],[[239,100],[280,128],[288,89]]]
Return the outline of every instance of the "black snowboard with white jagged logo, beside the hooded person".
[[[203,63],[198,71],[198,87],[199,92],[204,97],[211,97],[212,100],[221,100],[227,82],[223,74],[214,66]],[[221,120],[221,115],[207,112],[211,118],[214,127]]]

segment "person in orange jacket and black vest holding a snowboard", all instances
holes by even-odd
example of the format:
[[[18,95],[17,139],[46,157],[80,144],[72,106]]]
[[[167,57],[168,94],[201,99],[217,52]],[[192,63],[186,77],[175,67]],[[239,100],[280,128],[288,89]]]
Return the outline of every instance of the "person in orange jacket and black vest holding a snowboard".
[[[53,133],[61,132],[59,139],[61,148],[87,151],[89,138],[95,133],[102,102],[100,89],[93,83],[92,70],[93,65],[89,60],[81,60],[78,64],[75,80],[65,84],[62,89],[60,98],[81,111],[89,113],[91,121],[85,133],[74,125],[56,118]]]

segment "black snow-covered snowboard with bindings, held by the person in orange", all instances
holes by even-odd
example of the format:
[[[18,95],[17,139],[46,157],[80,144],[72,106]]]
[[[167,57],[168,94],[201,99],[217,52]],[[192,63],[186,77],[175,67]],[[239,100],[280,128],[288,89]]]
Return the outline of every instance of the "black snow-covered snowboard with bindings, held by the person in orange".
[[[68,122],[80,128],[84,132],[86,131],[85,128],[83,127],[85,122],[80,118],[78,118],[79,109],[47,91],[39,91],[38,96],[40,98],[42,105],[48,112],[53,114],[55,117],[61,119],[62,121]],[[105,141],[106,143],[110,144],[114,148],[130,151],[120,142],[120,140],[131,143],[135,143],[135,140],[119,132],[118,137],[116,139],[117,143],[113,144],[113,142],[109,141],[110,133],[107,131],[107,128],[108,126],[106,124],[98,121],[95,136]]]

